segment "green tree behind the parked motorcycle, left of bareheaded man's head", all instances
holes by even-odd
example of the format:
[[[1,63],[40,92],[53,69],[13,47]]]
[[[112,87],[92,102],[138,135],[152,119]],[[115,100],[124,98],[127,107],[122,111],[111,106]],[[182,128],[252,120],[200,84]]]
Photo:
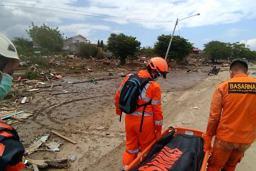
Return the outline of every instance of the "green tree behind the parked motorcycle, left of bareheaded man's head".
[[[205,56],[212,62],[218,59],[227,59],[230,56],[230,48],[227,43],[220,41],[211,41],[204,44]]]

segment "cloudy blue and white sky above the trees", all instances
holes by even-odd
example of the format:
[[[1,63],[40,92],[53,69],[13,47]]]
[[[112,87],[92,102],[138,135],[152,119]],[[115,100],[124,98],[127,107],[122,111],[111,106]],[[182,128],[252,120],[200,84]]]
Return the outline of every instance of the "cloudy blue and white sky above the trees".
[[[16,0],[16,2],[24,2],[23,0]],[[207,25],[218,25],[223,23],[235,23],[239,22],[244,18],[255,18],[256,17],[256,3],[255,0],[244,0],[244,1],[230,1],[230,0],[129,0],[129,1],[117,1],[117,0],[87,0],[86,5],[83,6],[84,2],[79,2],[78,5],[74,5],[77,0],[27,0],[26,3],[33,3],[46,6],[54,6],[60,8],[66,8],[70,10],[79,10],[92,13],[101,13],[105,15],[113,15],[125,18],[136,18],[142,20],[161,20],[161,21],[175,21],[176,18],[185,18],[193,14],[200,13],[200,16],[188,18],[179,22],[181,27],[196,27],[196,26],[207,26]],[[85,4],[84,3],[84,4]],[[4,26],[1,24],[0,32],[6,33],[9,37],[13,34],[12,30],[6,31],[13,26],[22,24],[30,25],[33,21],[37,25],[42,23],[51,25],[61,25],[63,28],[68,29],[69,26],[64,27],[65,22],[72,20],[73,22],[79,23],[81,20],[92,19],[89,16],[82,16],[76,14],[66,14],[47,10],[61,10],[67,12],[74,12],[80,14],[87,14],[82,12],[55,9],[50,7],[32,6],[24,4],[14,4],[0,2],[4,5],[16,5],[16,6],[27,6],[43,8],[46,10],[36,10],[29,8],[20,7],[8,7],[0,6],[0,23],[5,23]],[[248,5],[250,4],[250,5]],[[91,15],[91,14],[89,14]],[[94,18],[93,18],[94,19]],[[96,20],[97,19],[97,20]],[[121,19],[121,18],[120,18]],[[130,22],[102,19],[98,20],[95,18],[94,25],[96,30],[108,30],[109,32],[118,32],[118,29],[111,29],[111,22],[118,24],[126,24],[129,29]],[[101,24],[101,21],[104,24]],[[110,22],[110,23],[109,23]],[[135,22],[134,22],[135,23]],[[147,29],[162,29],[164,31],[172,31],[174,22],[169,23],[149,23],[149,22],[136,22],[138,25]],[[109,25],[109,26],[106,26]],[[90,35],[93,30],[82,24],[83,27],[79,29],[80,33]],[[100,28],[102,27],[102,28]],[[15,30],[15,28],[13,28]],[[73,30],[76,30],[73,28]],[[16,29],[16,31],[18,31]],[[62,30],[61,30],[62,31]],[[63,30],[64,32],[64,30]],[[75,31],[76,32],[76,31]],[[120,31],[121,32],[121,31]],[[230,35],[235,35],[237,32],[229,32]]]

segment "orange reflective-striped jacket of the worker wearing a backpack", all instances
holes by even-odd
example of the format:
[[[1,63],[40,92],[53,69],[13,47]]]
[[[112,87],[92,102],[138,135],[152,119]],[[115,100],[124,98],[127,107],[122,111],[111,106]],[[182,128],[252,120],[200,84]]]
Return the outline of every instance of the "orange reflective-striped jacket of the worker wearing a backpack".
[[[122,89],[122,86],[124,83],[128,80],[131,74],[128,74],[122,84],[120,85],[116,95],[115,95],[115,106],[116,106],[116,114],[120,115],[121,110],[118,107],[119,104],[119,95],[120,91]],[[147,71],[141,70],[138,72],[138,77],[140,78],[151,78],[150,74]],[[155,130],[156,131],[161,131],[162,130],[162,125],[163,125],[163,112],[161,110],[162,104],[161,104],[161,88],[158,82],[148,82],[145,88],[143,88],[139,99],[138,99],[138,105],[145,104],[152,100],[151,105],[147,105],[144,113],[144,117],[152,117],[155,122]],[[134,113],[127,114],[130,117],[138,117],[138,119],[141,119],[142,116],[142,111],[143,107],[140,107],[135,110]],[[128,117],[127,116],[127,117]]]

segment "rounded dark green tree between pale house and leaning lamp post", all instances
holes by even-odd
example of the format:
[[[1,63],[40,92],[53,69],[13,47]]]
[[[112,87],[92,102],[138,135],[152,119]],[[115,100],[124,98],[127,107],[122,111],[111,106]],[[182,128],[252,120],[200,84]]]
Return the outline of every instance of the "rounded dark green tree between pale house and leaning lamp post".
[[[112,51],[115,57],[120,57],[121,64],[125,64],[128,56],[134,57],[141,45],[135,37],[123,33],[111,33],[107,43],[108,50]]]

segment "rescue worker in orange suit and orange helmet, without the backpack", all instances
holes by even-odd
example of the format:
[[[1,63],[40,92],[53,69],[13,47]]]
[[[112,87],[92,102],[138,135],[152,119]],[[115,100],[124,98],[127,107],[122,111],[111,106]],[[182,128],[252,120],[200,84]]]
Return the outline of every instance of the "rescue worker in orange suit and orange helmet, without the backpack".
[[[166,78],[168,71],[167,62],[161,57],[151,58],[148,61],[145,70],[138,72],[140,78],[152,78],[143,88],[139,98],[138,105],[145,104],[151,100],[151,104],[147,105],[143,119],[143,129],[139,132],[142,118],[143,106],[135,110],[131,114],[125,115],[125,131],[126,131],[126,151],[123,154],[123,169],[137,157],[139,151],[143,151],[156,138],[161,138],[161,130],[163,124],[163,112],[161,110],[161,89],[158,77]],[[128,80],[131,74],[128,74],[122,82],[118,92],[115,95],[116,114],[120,115],[121,110],[118,107],[119,95],[122,86]]]

